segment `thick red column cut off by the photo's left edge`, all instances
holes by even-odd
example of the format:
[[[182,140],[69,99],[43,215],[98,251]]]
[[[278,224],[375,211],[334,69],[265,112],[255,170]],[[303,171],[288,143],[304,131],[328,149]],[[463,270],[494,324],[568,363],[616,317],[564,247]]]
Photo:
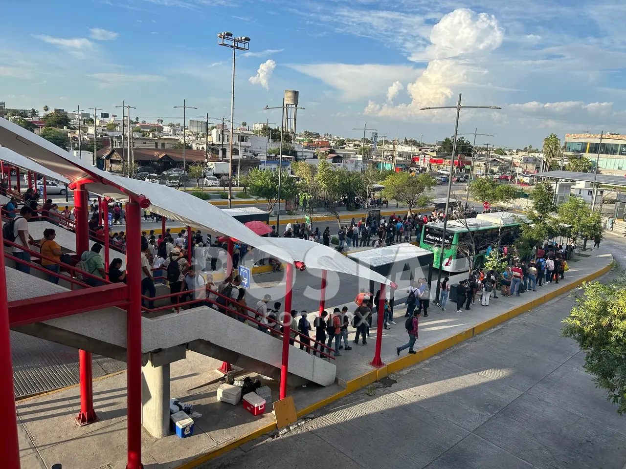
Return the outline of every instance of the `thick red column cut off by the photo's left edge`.
[[[11,176],[9,166],[9,176]],[[10,182],[11,178],[9,178]],[[9,184],[10,185],[10,184]],[[4,240],[0,229],[0,259],[4,260]],[[0,454],[3,466],[19,469],[18,428],[15,422],[15,396],[13,395],[13,363],[11,363],[11,339],[9,337],[9,308],[6,296],[4,262],[0,262],[0,406],[4,409],[0,425],[4,428],[0,438]]]

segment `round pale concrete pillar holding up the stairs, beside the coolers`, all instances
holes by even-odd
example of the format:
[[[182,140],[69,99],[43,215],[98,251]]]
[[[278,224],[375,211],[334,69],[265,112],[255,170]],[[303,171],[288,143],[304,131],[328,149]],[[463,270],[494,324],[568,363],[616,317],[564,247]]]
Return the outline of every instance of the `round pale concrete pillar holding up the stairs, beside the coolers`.
[[[143,375],[142,423],[150,435],[163,438],[170,434],[170,365],[141,367]]]

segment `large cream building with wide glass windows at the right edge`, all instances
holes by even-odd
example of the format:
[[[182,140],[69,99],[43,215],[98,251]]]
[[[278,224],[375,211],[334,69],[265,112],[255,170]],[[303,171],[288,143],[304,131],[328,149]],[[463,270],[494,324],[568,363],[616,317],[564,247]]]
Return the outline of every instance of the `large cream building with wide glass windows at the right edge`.
[[[565,156],[582,155],[595,161],[600,151],[598,168],[600,173],[626,174],[626,135],[608,133],[602,137],[600,134],[565,134]]]

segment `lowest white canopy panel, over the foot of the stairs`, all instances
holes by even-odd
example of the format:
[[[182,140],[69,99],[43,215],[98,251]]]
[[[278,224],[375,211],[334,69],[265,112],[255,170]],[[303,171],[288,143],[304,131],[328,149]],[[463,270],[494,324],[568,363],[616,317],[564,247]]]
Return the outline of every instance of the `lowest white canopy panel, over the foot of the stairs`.
[[[359,265],[333,248],[297,238],[269,238],[270,242],[304,262],[307,268],[347,273],[377,283],[392,285],[393,282],[366,266]],[[394,284],[395,285],[395,284]]]

